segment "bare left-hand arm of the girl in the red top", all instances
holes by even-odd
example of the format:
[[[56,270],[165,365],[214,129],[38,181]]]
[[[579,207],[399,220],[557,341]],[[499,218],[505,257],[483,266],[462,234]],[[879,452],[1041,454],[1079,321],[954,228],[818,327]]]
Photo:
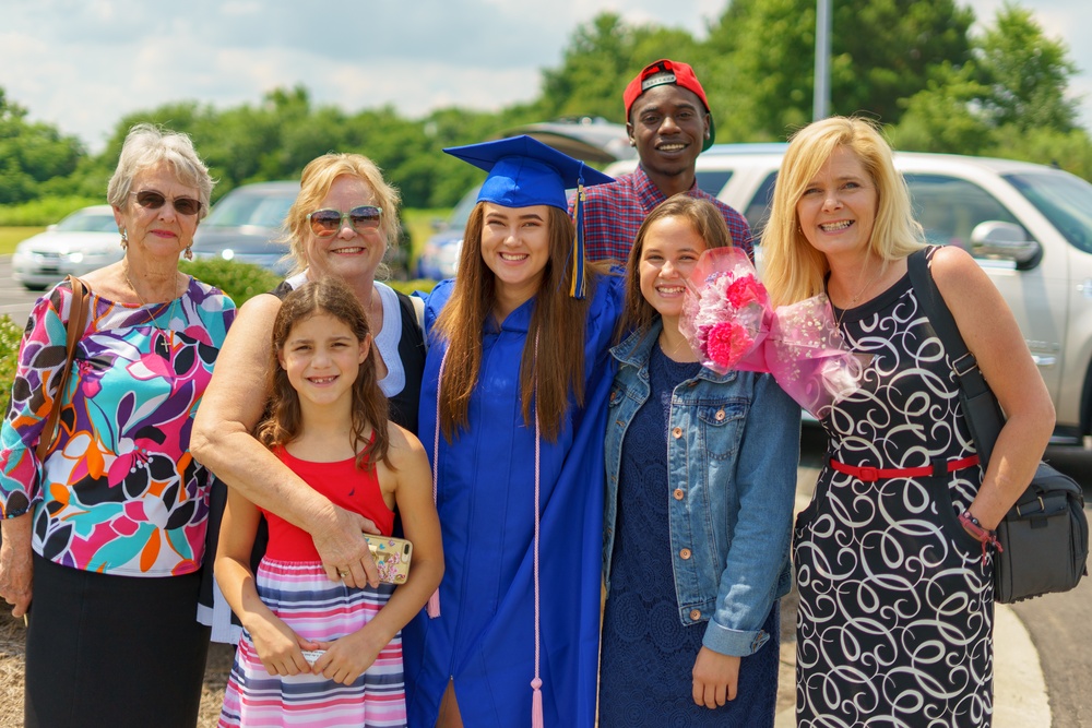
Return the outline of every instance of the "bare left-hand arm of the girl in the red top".
[[[302,649],[318,645],[301,640],[258,596],[254,574],[250,571],[250,552],[261,514],[258,506],[236,491],[227,494],[224,526],[216,549],[216,582],[232,610],[250,633],[262,666],[270,675],[310,672]]]

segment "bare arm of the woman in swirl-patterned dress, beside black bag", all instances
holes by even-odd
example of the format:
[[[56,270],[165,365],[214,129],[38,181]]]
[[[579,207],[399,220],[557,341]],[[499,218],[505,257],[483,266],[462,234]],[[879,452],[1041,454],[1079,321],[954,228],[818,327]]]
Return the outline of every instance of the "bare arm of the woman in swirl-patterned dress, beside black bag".
[[[974,259],[959,248],[940,248],[931,270],[968,349],[1005,410],[1005,427],[968,509],[983,527],[994,529],[1035,475],[1054,431],[1054,404],[1012,312]]]

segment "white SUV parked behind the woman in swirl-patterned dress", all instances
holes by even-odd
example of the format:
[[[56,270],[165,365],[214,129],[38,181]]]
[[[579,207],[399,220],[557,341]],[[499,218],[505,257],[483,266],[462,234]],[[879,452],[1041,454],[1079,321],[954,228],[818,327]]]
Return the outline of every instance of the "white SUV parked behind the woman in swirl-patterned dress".
[[[756,243],[785,148],[719,144],[698,157],[698,184],[747,217]],[[969,250],[1008,301],[1054,399],[1056,435],[1092,434],[1092,184],[985,157],[899,153],[895,166],[928,240]]]

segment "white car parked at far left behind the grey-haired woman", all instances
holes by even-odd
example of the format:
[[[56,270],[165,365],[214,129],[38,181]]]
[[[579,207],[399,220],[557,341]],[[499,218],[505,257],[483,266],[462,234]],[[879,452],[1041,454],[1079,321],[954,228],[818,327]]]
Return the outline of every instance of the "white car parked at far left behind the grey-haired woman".
[[[90,273],[123,254],[114,210],[93,205],[15,246],[12,277],[28,290],[45,290],[67,275]]]

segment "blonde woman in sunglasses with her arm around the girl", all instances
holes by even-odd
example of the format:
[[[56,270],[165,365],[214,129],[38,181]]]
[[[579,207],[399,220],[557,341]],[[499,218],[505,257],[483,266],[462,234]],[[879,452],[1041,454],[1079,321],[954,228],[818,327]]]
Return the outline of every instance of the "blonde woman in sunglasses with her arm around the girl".
[[[193,430],[194,456],[249,501],[311,534],[327,574],[351,587],[376,586],[379,574],[361,532],[375,524],[331,503],[266,450],[251,432],[265,407],[270,332],[281,300],[308,281],[334,276],[348,284],[364,306],[375,347],[380,389],[391,420],[417,430],[417,401],[425,348],[413,303],[376,281],[399,230],[399,193],[379,168],[359,154],[327,154],[304,168],[300,191],[285,219],[294,268],[270,294],[239,310],[240,325],[224,346]],[[218,526],[226,491],[213,491]],[[213,527],[213,530],[216,528]],[[210,533],[213,533],[212,530]],[[223,598],[211,580],[202,595],[201,620],[213,639],[238,642]]]

